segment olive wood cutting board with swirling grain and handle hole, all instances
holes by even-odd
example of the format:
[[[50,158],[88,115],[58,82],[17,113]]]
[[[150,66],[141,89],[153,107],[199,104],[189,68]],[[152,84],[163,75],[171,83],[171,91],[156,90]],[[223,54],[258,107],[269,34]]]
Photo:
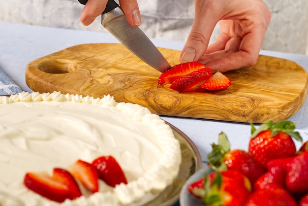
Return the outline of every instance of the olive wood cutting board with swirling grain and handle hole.
[[[170,65],[180,51],[158,48]],[[122,44],[81,44],[32,61],[26,83],[35,92],[78,94],[137,103],[153,113],[224,121],[264,123],[285,120],[307,97],[308,75],[298,64],[259,56],[255,66],[225,72],[232,84],[219,92],[179,93],[158,85],[161,73]]]

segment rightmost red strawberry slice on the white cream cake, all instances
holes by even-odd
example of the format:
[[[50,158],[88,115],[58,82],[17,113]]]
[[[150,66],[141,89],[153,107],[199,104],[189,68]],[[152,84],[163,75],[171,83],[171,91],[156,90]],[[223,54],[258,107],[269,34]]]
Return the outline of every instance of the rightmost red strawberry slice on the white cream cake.
[[[127,184],[124,172],[113,156],[101,156],[93,160],[92,165],[98,171],[98,176],[109,186],[115,187],[117,184]]]

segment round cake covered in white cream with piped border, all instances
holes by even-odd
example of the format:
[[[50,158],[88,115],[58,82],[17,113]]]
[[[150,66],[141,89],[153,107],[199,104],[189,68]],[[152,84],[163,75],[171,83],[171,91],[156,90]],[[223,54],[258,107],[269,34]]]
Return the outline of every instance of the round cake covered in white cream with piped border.
[[[117,159],[127,184],[99,180],[98,192],[57,203],[23,183],[27,172],[51,173],[104,155]],[[0,97],[0,191],[25,206],[145,205],[174,181],[180,164],[170,126],[138,104],[60,92]]]

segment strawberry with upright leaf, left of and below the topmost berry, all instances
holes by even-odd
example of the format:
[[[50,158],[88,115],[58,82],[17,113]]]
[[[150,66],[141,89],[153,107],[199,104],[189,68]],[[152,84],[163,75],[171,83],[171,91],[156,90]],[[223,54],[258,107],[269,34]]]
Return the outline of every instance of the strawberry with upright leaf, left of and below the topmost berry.
[[[242,149],[230,150],[230,142],[224,133],[220,133],[218,144],[212,144],[208,154],[209,166],[215,171],[235,170],[243,173],[251,184],[265,173],[261,166],[248,152]]]

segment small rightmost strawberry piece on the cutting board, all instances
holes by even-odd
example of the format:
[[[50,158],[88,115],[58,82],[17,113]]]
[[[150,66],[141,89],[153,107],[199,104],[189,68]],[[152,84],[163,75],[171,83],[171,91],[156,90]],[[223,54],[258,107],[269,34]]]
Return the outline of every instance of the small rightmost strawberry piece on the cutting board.
[[[220,91],[231,85],[231,79],[217,71],[211,78],[201,85],[201,88],[209,91]]]

